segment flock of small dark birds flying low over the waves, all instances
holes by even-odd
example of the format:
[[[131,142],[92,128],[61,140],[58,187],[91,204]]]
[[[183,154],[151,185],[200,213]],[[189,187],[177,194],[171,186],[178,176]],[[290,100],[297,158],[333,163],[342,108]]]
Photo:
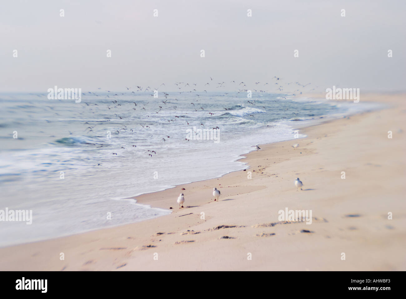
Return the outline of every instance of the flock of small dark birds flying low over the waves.
[[[230,83],[231,83],[231,86],[228,86],[230,89],[231,88],[233,88],[234,90],[235,90],[235,92],[237,92],[237,94],[240,94],[241,92],[248,92],[249,90],[251,90],[251,91],[254,91],[254,92],[283,92],[283,93],[285,93],[285,94],[287,94],[287,95],[289,95],[289,96],[296,96],[296,94],[302,94],[302,92],[299,90],[299,89],[296,89],[296,88],[299,88],[299,87],[301,87],[301,88],[304,88],[304,87],[306,87],[306,86],[308,86],[308,85],[310,85],[311,83],[308,83],[308,84],[300,84],[299,82],[289,82],[289,83],[282,83],[283,82],[283,80],[280,78],[280,77],[276,77],[276,76],[274,76],[273,78],[272,78],[272,82],[271,83],[261,83],[261,82],[255,82],[255,88],[251,88],[251,89],[248,89],[247,88],[247,86],[246,86],[246,84],[245,84],[245,82],[244,81],[242,81],[242,82],[240,82],[239,84],[238,83],[236,83],[235,81],[231,81]],[[212,84],[212,85],[210,85],[210,84]],[[292,86],[295,86],[294,88],[295,89],[293,89],[293,90],[285,90],[285,87],[283,87],[283,85],[284,86],[291,86],[291,84],[292,84]],[[276,87],[276,89],[274,89],[274,88],[271,88],[271,86],[275,86]],[[209,82],[207,82],[207,83],[205,83],[204,84],[204,86],[215,86],[215,88],[225,88],[227,85],[225,84],[225,82],[218,82],[218,83],[214,83],[213,82],[213,78],[212,77],[210,77],[210,80],[209,80]],[[261,87],[262,86],[262,87]],[[264,88],[263,88],[263,86],[268,86],[269,88],[267,89],[267,90],[263,90]],[[111,100],[111,103],[112,104],[110,104],[110,105],[107,105],[107,109],[108,110],[114,110],[114,109],[118,109],[119,108],[119,106],[121,106],[122,104],[121,103],[119,103],[119,101],[117,101],[117,100],[119,100],[119,97],[121,96],[121,95],[131,95],[131,94],[134,94],[134,95],[139,95],[139,92],[147,92],[147,91],[149,91],[149,92],[151,92],[151,94],[150,94],[150,96],[152,96],[152,97],[157,97],[158,96],[158,99],[160,98],[160,97],[164,97],[165,98],[165,100],[161,100],[160,102],[162,102],[162,104],[160,104],[160,105],[158,105],[158,107],[156,107],[155,109],[154,108],[150,108],[150,107],[147,107],[146,105],[148,104],[148,103],[145,103],[145,104],[143,104],[143,107],[140,107],[140,105],[138,104],[137,105],[137,103],[134,101],[133,103],[134,103],[134,106],[131,108],[131,110],[138,110],[138,111],[140,111],[140,112],[145,112],[145,116],[146,117],[150,117],[150,115],[151,115],[151,113],[153,113],[153,114],[158,114],[161,110],[163,110],[163,109],[165,109],[165,110],[173,110],[173,111],[176,111],[176,109],[177,109],[177,105],[173,105],[173,102],[174,101],[178,101],[178,99],[171,99],[171,102],[168,100],[168,97],[169,97],[169,92],[170,91],[168,91],[168,92],[165,92],[165,91],[161,91],[161,92],[158,92],[158,89],[159,88],[162,88],[162,87],[164,87],[164,88],[168,88],[164,83],[162,83],[160,86],[158,86],[158,88],[151,88],[150,86],[147,86],[147,87],[145,87],[145,88],[143,88],[142,86],[140,86],[140,85],[135,85],[134,87],[127,87],[127,86],[125,86],[125,88],[126,88],[126,92],[119,92],[119,93],[114,93],[114,92],[112,92],[112,91],[110,91],[110,90],[105,90],[105,92],[104,92],[104,94],[97,94],[96,92],[88,92],[87,93],[87,95],[92,95],[92,96],[96,96],[96,97],[104,97],[104,99],[110,99]],[[187,82],[175,82],[174,83],[174,87],[177,89],[177,92],[173,92],[173,93],[175,93],[175,95],[179,92],[179,94],[182,94],[182,93],[184,93],[184,92],[189,92],[189,93],[194,93],[194,95],[196,96],[196,98],[193,100],[193,102],[191,102],[190,103],[190,107],[192,108],[192,109],[194,109],[196,112],[197,111],[201,111],[202,113],[204,113],[206,116],[213,116],[215,113],[214,112],[208,112],[207,110],[205,110],[205,107],[199,107],[199,106],[201,106],[201,105],[199,105],[199,99],[200,99],[200,97],[201,97],[201,94],[198,94],[197,93],[197,90],[196,90],[196,88],[197,88],[197,83],[191,83],[191,84],[189,84],[189,83],[187,83]],[[187,87],[188,87],[188,89],[189,90],[187,90]],[[253,86],[254,87],[254,86]],[[317,88],[318,86],[316,86],[316,88]],[[98,88],[99,90],[102,90],[102,88]],[[136,91],[134,91],[134,90],[131,90],[131,89],[134,89],[134,90],[136,90]],[[182,90],[183,89],[183,90]],[[272,89],[274,89],[274,90],[272,90]],[[130,91],[131,90],[131,91]],[[311,89],[311,90],[315,90],[315,88],[313,88],[313,89]],[[308,90],[308,91],[311,91],[311,90]],[[106,92],[107,92],[107,94],[106,94]],[[207,90],[203,90],[203,93],[207,93]],[[171,92],[172,93],[172,92]],[[202,92],[199,92],[199,93],[202,93]],[[83,95],[86,95],[85,93],[82,93]],[[224,92],[224,94],[223,95],[228,95],[229,94],[229,92]],[[235,95],[235,97],[237,97],[237,95]],[[284,98],[284,99],[286,99],[286,97],[282,97],[282,98]],[[246,101],[246,103],[249,103],[250,105],[256,105],[256,102],[257,102],[257,100],[253,100],[253,99],[250,99],[250,100],[247,100]],[[84,102],[87,106],[89,106],[89,103],[86,103],[86,102]],[[124,102],[123,102],[123,104],[124,104]],[[98,104],[94,104],[94,105],[98,105]],[[265,107],[262,107],[262,108],[265,108]],[[148,110],[147,110],[148,109]],[[229,110],[229,108],[223,108],[223,109],[225,109],[225,110]],[[117,110],[116,112],[118,112],[119,110]],[[174,113],[175,114],[175,113]],[[117,118],[117,119],[123,119],[123,117],[124,116],[120,116],[120,115],[118,115],[117,113],[114,113],[114,116]],[[252,115],[252,114],[250,114],[250,116],[251,117],[254,117],[254,115]],[[178,115],[175,115],[172,119],[169,119],[168,120],[168,123],[174,123],[176,120],[179,120],[179,116]],[[189,125],[189,122],[188,122],[188,120],[184,120],[188,125]],[[89,125],[89,123],[85,123],[85,124],[87,124],[87,125]],[[138,124],[138,125],[140,125],[140,127],[142,127],[142,128],[144,128],[144,129],[151,129],[151,127],[149,126],[149,125],[151,125],[151,124],[149,124],[149,125],[147,125],[147,123],[144,123],[144,124]],[[93,126],[94,127],[94,126]],[[91,126],[89,126],[89,127],[87,127],[86,129],[85,129],[85,131],[86,130],[88,130],[88,129],[90,129],[89,131],[87,131],[87,133],[89,133],[89,132],[91,132],[91,131],[93,131],[93,127],[91,127]],[[200,124],[198,124],[197,125],[197,127],[205,127],[205,125],[203,124],[203,123],[200,123]],[[217,129],[219,129],[219,127],[218,126],[216,126],[216,127],[213,127],[212,128],[213,130],[217,130]],[[122,128],[120,128],[120,129],[118,129],[118,130],[116,130],[116,131],[114,131],[114,133],[116,133],[117,135],[119,135],[120,134],[120,132],[122,132],[122,131],[130,131],[130,132],[134,132],[134,130],[133,129],[129,129],[129,128],[127,128],[127,126],[126,125],[122,125]],[[169,140],[169,138],[170,138],[170,136],[168,136],[168,135],[165,135],[165,136],[162,136],[161,137],[161,142],[166,142],[166,141],[168,141]],[[189,141],[187,138],[185,138],[185,140],[186,141]],[[133,147],[136,147],[136,145],[132,145]],[[124,149],[124,147],[122,146],[121,147],[122,149]],[[155,151],[151,151],[151,150],[148,150],[148,151],[146,151],[145,153],[148,153],[148,155],[149,156],[151,156],[151,157],[153,157],[153,155],[152,154],[156,154],[156,152]],[[112,153],[112,155],[117,155],[117,153]]]

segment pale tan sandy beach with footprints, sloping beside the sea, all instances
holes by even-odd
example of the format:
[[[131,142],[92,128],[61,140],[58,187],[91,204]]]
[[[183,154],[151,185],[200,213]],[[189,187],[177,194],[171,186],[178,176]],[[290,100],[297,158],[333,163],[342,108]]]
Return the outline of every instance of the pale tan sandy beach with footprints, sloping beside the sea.
[[[387,108],[300,129],[306,138],[260,144],[240,160],[245,171],[136,197],[172,207],[170,215],[0,248],[0,269],[404,271],[405,95],[362,101]],[[280,221],[285,209],[311,210],[311,224]]]

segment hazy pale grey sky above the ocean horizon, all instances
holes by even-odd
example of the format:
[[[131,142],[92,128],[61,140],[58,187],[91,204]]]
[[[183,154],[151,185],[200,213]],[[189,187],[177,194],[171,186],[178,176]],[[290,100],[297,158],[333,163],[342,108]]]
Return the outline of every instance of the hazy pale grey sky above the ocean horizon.
[[[209,90],[209,77],[233,90],[274,76],[318,91],[404,91],[405,11],[397,0],[1,1],[0,92]]]

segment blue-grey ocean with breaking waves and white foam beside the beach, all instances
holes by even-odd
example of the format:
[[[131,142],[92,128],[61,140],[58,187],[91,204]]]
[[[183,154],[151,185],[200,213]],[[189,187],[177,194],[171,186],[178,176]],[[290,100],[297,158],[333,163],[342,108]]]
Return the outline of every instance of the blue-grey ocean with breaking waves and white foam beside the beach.
[[[0,222],[0,246],[167,215],[124,198],[245,169],[238,159],[256,144],[377,108],[265,92],[97,90],[80,103],[4,93],[0,103],[0,210],[32,210],[32,224]]]

